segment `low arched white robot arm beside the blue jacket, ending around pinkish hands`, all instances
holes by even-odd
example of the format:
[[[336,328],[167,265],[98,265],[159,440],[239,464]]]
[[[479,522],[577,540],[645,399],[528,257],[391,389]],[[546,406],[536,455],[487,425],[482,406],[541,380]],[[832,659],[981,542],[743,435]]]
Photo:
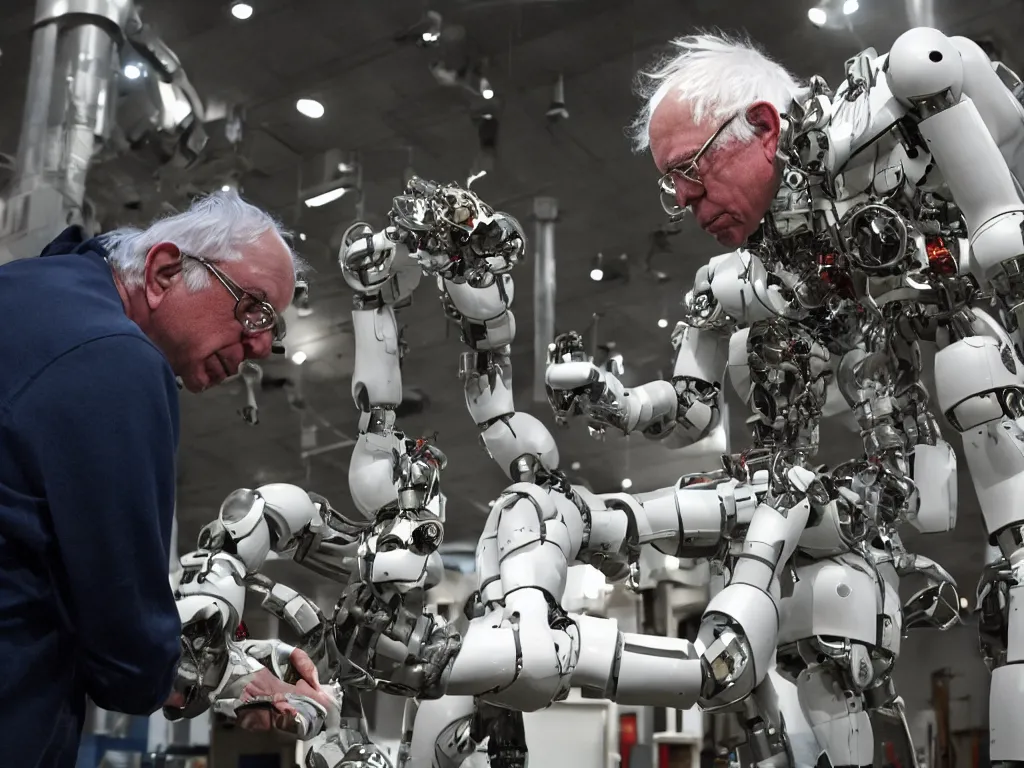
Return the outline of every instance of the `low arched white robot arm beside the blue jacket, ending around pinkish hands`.
[[[338,513],[327,500],[287,483],[232,492],[216,520],[204,527],[199,548],[181,558],[176,590],[181,616],[182,660],[175,690],[181,707],[165,707],[170,720],[207,709],[245,724],[270,717],[279,729],[311,741],[307,768],[342,764],[386,768],[370,741],[359,692],[373,681],[342,655],[333,623],[315,603],[259,572],[270,552],[335,581],[357,571],[364,526]],[[298,636],[297,646],[248,637],[242,623],[246,597]],[[312,689],[298,669],[301,648],[315,666]]]

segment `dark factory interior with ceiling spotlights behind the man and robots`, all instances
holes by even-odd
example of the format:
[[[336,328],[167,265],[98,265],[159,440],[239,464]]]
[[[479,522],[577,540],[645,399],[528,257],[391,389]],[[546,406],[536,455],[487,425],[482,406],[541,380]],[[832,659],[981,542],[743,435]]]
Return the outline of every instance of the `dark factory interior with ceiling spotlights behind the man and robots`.
[[[66,169],[91,226],[144,223],[196,195],[236,188],[286,224],[312,266],[308,295],[286,313],[286,354],[263,367],[260,423],[240,417],[246,391],[238,380],[182,397],[179,552],[195,546],[238,487],[293,482],[339,508],[347,504],[357,411],[351,292],[338,249],[353,222],[382,225],[414,174],[473,178],[484,200],[524,223],[531,246],[515,273],[516,402],[554,431],[570,478],[598,493],[656,488],[706,469],[707,460],[681,458],[642,437],[597,440],[582,426],[556,428],[540,364],[554,334],[577,330],[595,357],[615,358],[627,386],[667,377],[680,299],[695,269],[721,250],[695,223],[666,221],[653,165],[631,153],[624,129],[637,108],[636,72],[670,36],[713,28],[746,32],[797,75],[833,84],[847,58],[866,47],[883,51],[920,25],[971,37],[1017,72],[1024,66],[1019,0],[150,0],[137,9],[144,28],[126,39],[86,25],[58,35],[41,9],[59,3],[2,5],[0,205],[5,233],[13,224],[28,232],[7,241],[11,255],[25,255],[40,238],[45,243],[55,233],[47,214],[67,207],[18,179],[40,171],[33,162],[45,162],[54,68],[74,72],[69,51],[87,49],[100,74],[113,73],[105,91],[97,80],[75,94],[75,140],[104,136],[90,162]],[[35,161],[19,150],[27,140],[38,143]],[[449,457],[450,573],[434,599],[458,607],[472,591],[476,537],[506,481],[466,413],[458,328],[444,318],[429,281],[399,325],[408,352],[398,419],[410,434],[435,435]],[[741,412],[738,400],[732,410]],[[734,421],[731,438],[742,441],[741,419]],[[822,435],[822,444],[826,463],[860,450],[855,435],[840,431]],[[964,597],[963,624],[941,636],[909,637],[896,673],[929,768],[987,764],[988,674],[970,610],[986,542],[961,466],[955,531],[908,538],[952,573]],[[660,632],[686,634],[687,622],[699,616],[707,573],[672,560],[649,563],[646,599],[578,566],[573,605],[615,616],[624,629],[653,622]],[[271,563],[268,573],[325,608],[336,599],[327,582],[292,563]],[[257,611],[245,620],[254,635],[278,630]],[[375,733],[392,748],[400,712],[386,696],[373,701]],[[544,744],[530,765],[696,768],[714,755],[719,727],[695,713],[570,698],[528,720],[531,743]],[[586,755],[561,737],[591,728],[604,737],[588,739]],[[161,715],[138,722],[96,712],[90,731],[82,768],[291,765],[280,755],[279,762],[231,757],[251,752],[265,760],[289,750],[269,745],[270,737],[221,731],[209,719],[171,725]],[[905,763],[891,754],[880,760]]]

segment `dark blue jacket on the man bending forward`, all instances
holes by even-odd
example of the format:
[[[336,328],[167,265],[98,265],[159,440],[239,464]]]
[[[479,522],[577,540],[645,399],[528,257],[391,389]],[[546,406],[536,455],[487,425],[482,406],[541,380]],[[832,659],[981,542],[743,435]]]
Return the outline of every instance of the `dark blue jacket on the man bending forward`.
[[[170,693],[178,392],[72,227],[0,266],[0,764],[73,767],[90,696]]]

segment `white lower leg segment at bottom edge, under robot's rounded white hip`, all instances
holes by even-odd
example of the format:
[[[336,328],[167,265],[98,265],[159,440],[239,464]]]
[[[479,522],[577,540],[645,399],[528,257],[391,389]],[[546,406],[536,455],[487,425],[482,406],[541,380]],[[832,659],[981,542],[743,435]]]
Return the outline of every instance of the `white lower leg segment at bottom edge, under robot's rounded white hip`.
[[[814,665],[800,673],[800,703],[817,738],[818,768],[870,766],[874,762],[871,721],[859,693],[845,690],[830,669]]]

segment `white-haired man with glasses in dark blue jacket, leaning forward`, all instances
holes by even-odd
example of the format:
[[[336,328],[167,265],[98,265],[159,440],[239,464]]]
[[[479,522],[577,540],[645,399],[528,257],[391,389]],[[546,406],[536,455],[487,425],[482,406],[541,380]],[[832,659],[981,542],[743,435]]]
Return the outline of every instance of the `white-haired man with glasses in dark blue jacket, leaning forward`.
[[[178,387],[284,336],[296,257],[234,194],[145,230],[0,267],[0,744],[74,766],[86,695],[144,715],[171,692]],[[173,703],[173,701],[171,701]]]

